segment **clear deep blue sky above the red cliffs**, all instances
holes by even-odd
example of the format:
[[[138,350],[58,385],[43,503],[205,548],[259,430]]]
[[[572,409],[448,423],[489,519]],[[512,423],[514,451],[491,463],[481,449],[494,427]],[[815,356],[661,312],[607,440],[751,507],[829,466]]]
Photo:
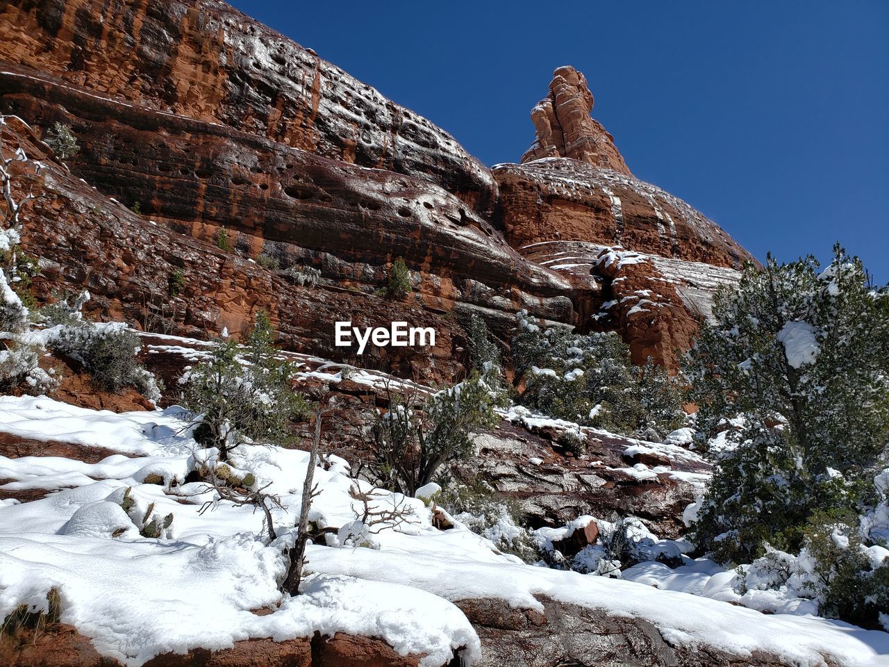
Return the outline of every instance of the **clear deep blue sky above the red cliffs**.
[[[639,178],[760,259],[839,240],[889,282],[887,0],[234,4],[486,165],[518,160],[571,64]]]

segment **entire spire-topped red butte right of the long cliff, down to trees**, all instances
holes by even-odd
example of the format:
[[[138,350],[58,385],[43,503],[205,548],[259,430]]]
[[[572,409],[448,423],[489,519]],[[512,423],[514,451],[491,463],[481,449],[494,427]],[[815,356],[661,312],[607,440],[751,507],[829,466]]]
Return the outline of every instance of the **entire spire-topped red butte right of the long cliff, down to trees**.
[[[675,366],[717,286],[753,258],[692,206],[633,177],[592,106],[585,77],[557,68],[532,111],[534,145],[521,164],[493,167],[500,229],[571,281],[581,332],[619,331],[636,363]]]

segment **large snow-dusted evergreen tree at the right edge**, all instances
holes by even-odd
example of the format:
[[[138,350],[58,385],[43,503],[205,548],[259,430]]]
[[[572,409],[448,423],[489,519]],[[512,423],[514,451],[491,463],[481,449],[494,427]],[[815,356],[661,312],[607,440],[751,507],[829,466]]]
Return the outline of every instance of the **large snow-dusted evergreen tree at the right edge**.
[[[749,265],[689,355],[701,445],[717,459],[695,534],[724,560],[798,550],[817,510],[869,502],[889,440],[889,293],[840,248]],[[709,445],[708,445],[709,443]]]

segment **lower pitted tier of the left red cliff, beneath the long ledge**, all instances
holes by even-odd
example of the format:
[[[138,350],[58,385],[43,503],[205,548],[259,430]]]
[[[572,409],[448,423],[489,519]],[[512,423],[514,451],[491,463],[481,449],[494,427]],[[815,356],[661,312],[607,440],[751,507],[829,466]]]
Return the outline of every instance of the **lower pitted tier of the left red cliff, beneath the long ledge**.
[[[83,93],[27,81],[4,104],[41,119],[56,117],[41,109],[63,113],[53,102],[37,104],[24,92],[31,85],[66,108],[82,103],[92,120],[80,122],[94,139],[84,146],[89,159],[79,173],[114,189],[118,201],[140,201],[147,213],[109,201],[53,163],[23,123],[7,125],[4,148],[21,146],[45,163],[35,184],[43,197],[30,205],[25,224],[44,294],[86,288],[94,297],[88,307],[100,317],[199,338],[223,327],[243,332],[264,309],[285,346],[329,358],[355,355],[334,346],[339,320],[433,326],[434,348],[388,348],[380,362],[428,381],[461,374],[466,338],[460,318],[445,317],[452,311],[480,312],[501,333],[519,308],[573,320],[563,278],[525,260],[461,200],[427,181],[149,109],[115,114],[115,103],[104,108]],[[163,141],[155,141],[158,133]],[[222,228],[230,251],[215,242]],[[260,253],[278,268],[253,261]],[[413,291],[393,300],[382,292],[399,256],[413,271]],[[307,268],[320,271],[316,285],[300,283]],[[177,271],[184,289],[172,294],[169,278]]]

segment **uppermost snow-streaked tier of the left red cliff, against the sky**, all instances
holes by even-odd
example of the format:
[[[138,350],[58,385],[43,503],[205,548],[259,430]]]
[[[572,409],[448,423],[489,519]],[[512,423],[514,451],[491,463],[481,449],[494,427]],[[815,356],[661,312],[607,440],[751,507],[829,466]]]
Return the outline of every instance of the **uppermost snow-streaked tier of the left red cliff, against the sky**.
[[[93,100],[214,123],[442,185],[477,211],[490,173],[453,137],[218,0],[0,5],[0,60]]]

